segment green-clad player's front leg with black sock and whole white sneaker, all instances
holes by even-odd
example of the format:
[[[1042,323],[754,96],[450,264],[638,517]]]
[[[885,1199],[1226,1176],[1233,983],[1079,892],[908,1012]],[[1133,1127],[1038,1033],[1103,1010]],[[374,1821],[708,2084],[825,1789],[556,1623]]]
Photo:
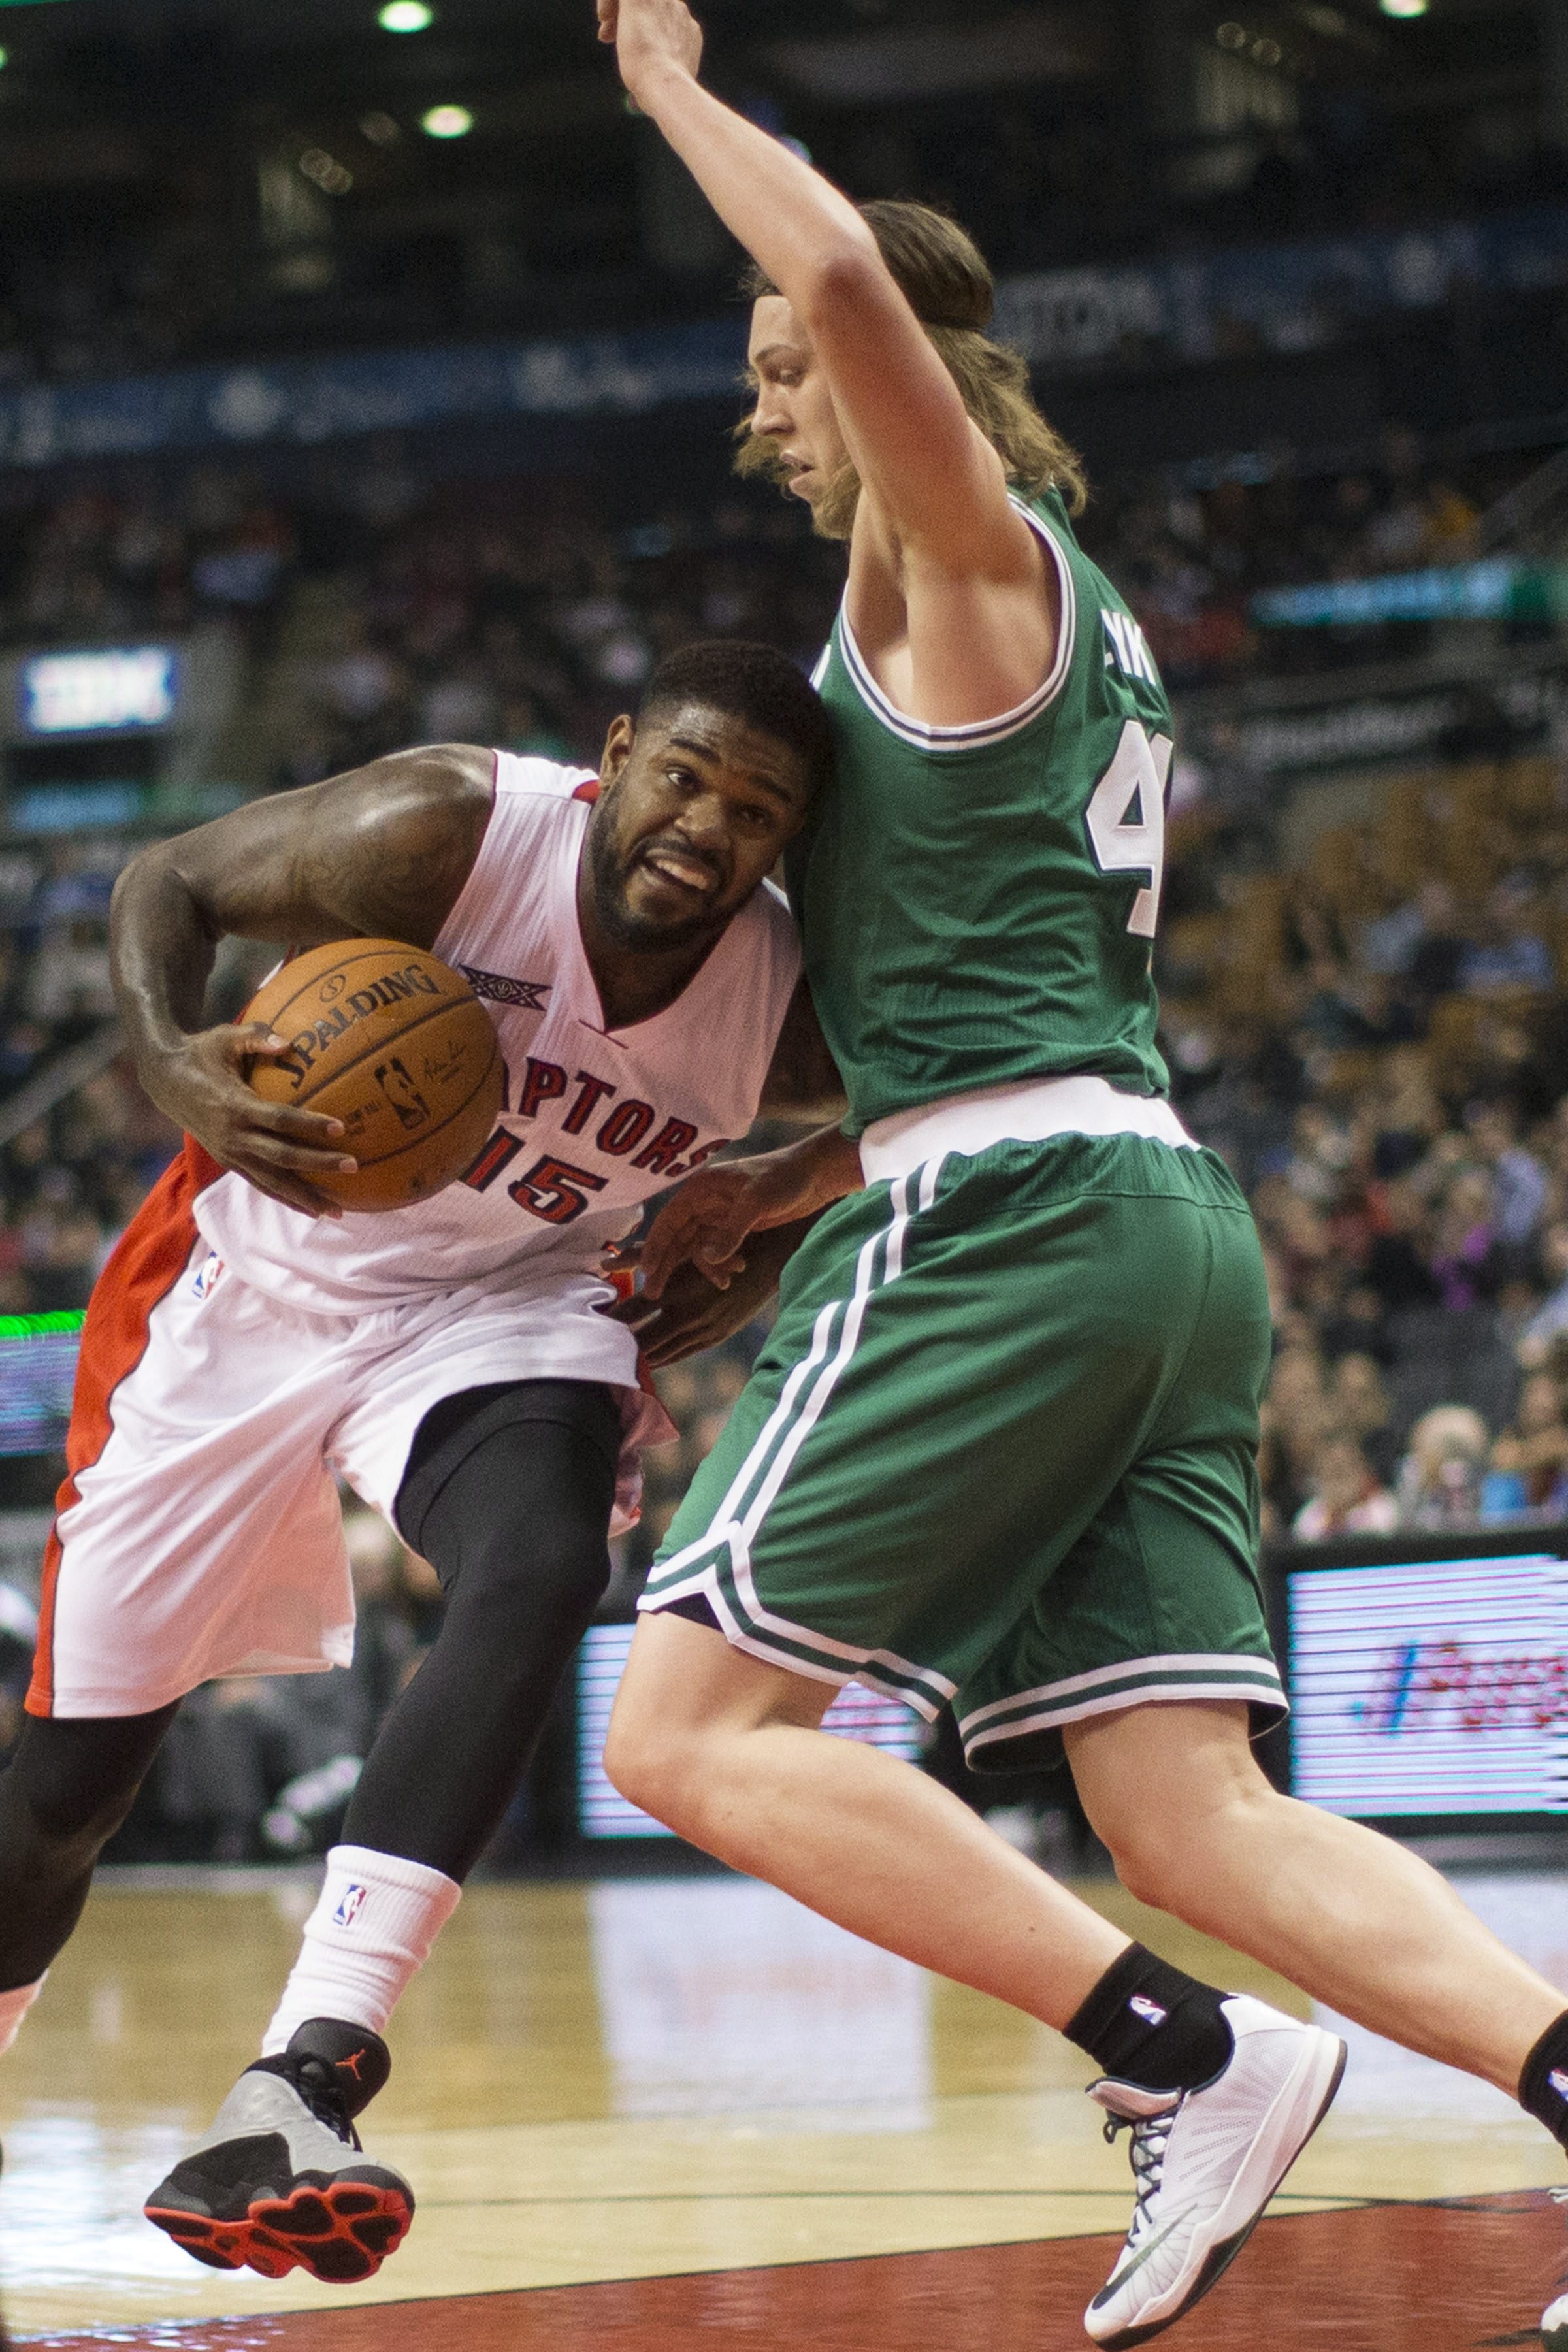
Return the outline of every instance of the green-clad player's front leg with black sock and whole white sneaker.
[[[646,1616],[604,1755],[693,1844],[839,1926],[1025,2009],[1105,2065],[1133,2133],[1121,2263],[1086,2326],[1133,2345],[1234,2260],[1340,2082],[1345,2046],[1157,1962],[910,1764],[818,1729],[830,1686]]]

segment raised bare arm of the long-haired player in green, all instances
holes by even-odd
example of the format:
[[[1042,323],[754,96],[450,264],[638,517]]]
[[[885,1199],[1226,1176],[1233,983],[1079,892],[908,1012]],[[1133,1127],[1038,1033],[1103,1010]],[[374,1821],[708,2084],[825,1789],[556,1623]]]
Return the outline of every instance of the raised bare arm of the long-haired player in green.
[[[684,0],[597,7],[632,99],[806,329],[849,456],[905,560],[1034,583],[1039,555],[1001,461],[849,198],[698,85],[703,35]],[[769,355],[755,350],[752,367],[766,386]]]

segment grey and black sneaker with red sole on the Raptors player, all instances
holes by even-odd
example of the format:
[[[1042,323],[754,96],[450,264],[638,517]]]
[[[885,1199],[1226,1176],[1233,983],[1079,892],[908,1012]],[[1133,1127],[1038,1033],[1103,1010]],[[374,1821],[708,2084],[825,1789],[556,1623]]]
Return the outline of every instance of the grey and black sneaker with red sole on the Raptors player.
[[[207,2138],[158,2183],[146,2218],[212,2270],[369,2279],[414,2220],[414,2190],[364,2161],[353,2124],[390,2070],[381,2034],[310,2018],[280,2058],[244,2070]]]

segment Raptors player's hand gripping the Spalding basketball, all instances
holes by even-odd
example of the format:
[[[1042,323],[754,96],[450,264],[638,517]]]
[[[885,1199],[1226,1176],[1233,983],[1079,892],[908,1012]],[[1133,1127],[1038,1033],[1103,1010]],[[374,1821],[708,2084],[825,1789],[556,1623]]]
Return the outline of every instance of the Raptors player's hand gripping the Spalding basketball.
[[[301,1216],[341,1216],[339,1202],[310,1178],[348,1176],[357,1167],[343,1152],[343,1122],[263,1103],[244,1082],[252,1061],[277,1061],[287,1051],[287,1037],[266,1021],[223,1023],[181,1037],[158,1058],[141,1058],[139,1075],[176,1127],[259,1192]]]

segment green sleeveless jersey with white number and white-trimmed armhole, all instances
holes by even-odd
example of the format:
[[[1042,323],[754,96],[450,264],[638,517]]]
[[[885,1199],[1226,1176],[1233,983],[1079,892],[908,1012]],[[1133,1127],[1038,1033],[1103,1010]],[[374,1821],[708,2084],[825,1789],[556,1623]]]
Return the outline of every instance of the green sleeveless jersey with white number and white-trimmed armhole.
[[[1171,706],[1143,630],[1051,492],[1016,499],[1060,581],[1060,640],[1018,710],[924,727],[839,612],[818,670],[837,781],[790,896],[849,1134],[947,1094],[1093,1070],[1164,1094],[1150,943]]]

